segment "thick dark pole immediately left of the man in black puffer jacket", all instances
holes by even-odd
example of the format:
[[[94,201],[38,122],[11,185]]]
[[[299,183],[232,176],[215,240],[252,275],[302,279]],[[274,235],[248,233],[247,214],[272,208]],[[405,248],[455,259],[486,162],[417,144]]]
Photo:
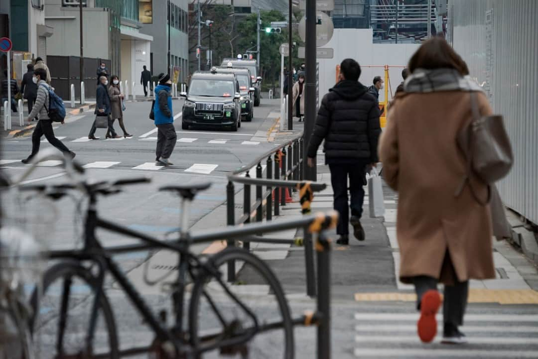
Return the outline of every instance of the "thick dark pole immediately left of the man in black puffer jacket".
[[[308,167],[307,164],[307,148],[312,130],[314,129],[314,121],[316,120],[316,0],[306,0],[306,93],[305,93],[305,135],[303,141],[303,166],[305,179],[316,181],[316,166]],[[329,357],[330,352],[323,353],[319,351],[320,357]]]

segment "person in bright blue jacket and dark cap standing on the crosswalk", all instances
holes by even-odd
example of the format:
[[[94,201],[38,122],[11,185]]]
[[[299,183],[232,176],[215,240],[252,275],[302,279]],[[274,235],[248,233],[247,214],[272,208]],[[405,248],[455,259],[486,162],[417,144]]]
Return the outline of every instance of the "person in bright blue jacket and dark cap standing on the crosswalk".
[[[172,80],[168,74],[159,74],[159,85],[155,87],[157,100],[153,107],[157,132],[157,149],[155,150],[156,166],[173,166],[169,161],[178,135],[175,133],[174,113],[172,112],[172,96],[170,90]]]

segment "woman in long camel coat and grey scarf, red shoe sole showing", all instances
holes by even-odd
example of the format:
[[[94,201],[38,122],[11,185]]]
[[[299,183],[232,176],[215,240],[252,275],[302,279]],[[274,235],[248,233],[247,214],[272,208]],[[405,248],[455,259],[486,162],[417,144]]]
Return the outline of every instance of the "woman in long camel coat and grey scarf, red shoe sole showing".
[[[469,185],[456,196],[466,174],[457,133],[472,120],[471,91],[480,113],[492,110],[469,78],[461,57],[442,38],[430,39],[409,61],[412,73],[395,97],[379,144],[386,183],[398,191],[397,237],[400,281],[413,283],[421,316],[420,339],[437,331],[435,313],[444,283],[443,341],[464,343],[469,279],[495,278],[489,206],[473,198]],[[479,198],[487,185],[471,179]]]

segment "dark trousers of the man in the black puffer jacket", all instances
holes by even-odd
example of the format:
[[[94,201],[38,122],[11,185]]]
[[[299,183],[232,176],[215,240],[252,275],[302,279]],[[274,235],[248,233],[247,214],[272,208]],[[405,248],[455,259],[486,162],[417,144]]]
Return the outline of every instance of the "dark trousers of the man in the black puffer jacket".
[[[334,192],[334,209],[340,214],[336,233],[349,234],[348,177],[351,216],[360,218],[363,214],[363,179],[366,163],[329,163],[329,169],[331,171],[332,191]]]

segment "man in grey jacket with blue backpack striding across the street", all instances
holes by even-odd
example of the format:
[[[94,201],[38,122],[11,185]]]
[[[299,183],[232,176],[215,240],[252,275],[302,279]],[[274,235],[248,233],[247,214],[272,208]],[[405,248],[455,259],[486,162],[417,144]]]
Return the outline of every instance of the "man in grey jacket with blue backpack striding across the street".
[[[65,109],[59,109],[56,99],[59,99],[51,87],[47,84],[47,71],[45,69],[34,70],[34,76],[32,77],[33,83],[38,85],[36,103],[32,107],[32,112],[28,116],[28,120],[38,116],[39,121],[32,133],[32,153],[27,159],[22,160],[23,163],[29,163],[33,156],[39,152],[39,145],[41,137],[45,135],[47,141],[54,147],[58,148],[64,154],[70,155],[71,158],[75,157],[75,153],[70,151],[59,139],[54,136],[54,130],[52,128],[52,122],[59,121],[63,124],[63,117],[65,117]],[[54,96],[55,105],[54,108],[51,105],[51,93]],[[60,99],[61,102],[61,99]],[[63,112],[62,112],[63,110]]]

